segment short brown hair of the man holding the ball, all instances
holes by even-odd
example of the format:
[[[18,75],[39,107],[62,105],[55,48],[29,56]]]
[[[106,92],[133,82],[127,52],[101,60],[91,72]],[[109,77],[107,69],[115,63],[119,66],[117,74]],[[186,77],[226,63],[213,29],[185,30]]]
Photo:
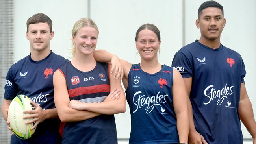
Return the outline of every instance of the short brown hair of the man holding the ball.
[[[28,26],[30,24],[37,24],[39,22],[42,22],[42,23],[47,22],[47,24],[49,25],[49,28],[50,28],[50,33],[52,33],[52,20],[47,15],[45,15],[43,13],[37,13],[37,14],[33,15],[32,17],[28,18],[27,32],[28,32]]]

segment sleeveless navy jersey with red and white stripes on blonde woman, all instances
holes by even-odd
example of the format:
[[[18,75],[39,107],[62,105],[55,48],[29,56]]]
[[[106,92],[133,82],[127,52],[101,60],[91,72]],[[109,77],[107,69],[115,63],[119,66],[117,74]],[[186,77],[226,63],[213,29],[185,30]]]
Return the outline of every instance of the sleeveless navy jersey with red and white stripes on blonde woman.
[[[66,79],[69,99],[85,103],[103,102],[110,93],[109,65],[97,62],[93,70],[82,72],[71,62],[59,71]],[[117,144],[114,115],[101,114],[88,120],[66,122],[63,144]]]

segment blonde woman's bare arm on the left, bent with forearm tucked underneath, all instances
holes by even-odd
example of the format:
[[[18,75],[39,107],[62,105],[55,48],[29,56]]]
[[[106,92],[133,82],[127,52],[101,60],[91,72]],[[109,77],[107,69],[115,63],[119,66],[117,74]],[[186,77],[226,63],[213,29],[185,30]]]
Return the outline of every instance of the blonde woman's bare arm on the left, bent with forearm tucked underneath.
[[[74,122],[80,120],[87,120],[95,116],[99,116],[100,113],[94,113],[91,111],[79,111],[69,107],[69,94],[67,90],[66,80],[57,70],[53,76],[54,84],[54,102],[59,118],[62,122]]]

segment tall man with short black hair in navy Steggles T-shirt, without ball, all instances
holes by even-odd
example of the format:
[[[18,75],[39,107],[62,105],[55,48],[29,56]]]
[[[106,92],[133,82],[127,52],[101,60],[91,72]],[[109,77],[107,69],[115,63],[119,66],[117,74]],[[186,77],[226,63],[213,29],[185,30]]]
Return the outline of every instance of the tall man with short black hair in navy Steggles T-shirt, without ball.
[[[189,102],[189,143],[242,144],[240,119],[256,144],[256,123],[245,89],[241,55],[220,42],[226,24],[215,1],[198,9],[199,40],[181,48],[172,66],[184,78]]]

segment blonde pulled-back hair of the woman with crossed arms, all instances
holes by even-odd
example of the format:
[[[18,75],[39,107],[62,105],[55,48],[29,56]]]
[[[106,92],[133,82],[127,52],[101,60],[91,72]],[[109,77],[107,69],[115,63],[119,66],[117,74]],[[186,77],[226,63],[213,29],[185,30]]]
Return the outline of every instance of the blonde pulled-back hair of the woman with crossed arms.
[[[83,28],[83,27],[86,27],[86,26],[95,28],[98,31],[98,34],[99,34],[98,26],[95,24],[95,22],[92,19],[90,19],[90,18],[81,18],[80,20],[76,21],[76,23],[73,26],[72,38],[76,36],[76,33],[80,28]],[[73,48],[71,49],[71,54],[73,55],[73,57],[75,55],[75,52],[76,52],[76,47],[73,43]]]

